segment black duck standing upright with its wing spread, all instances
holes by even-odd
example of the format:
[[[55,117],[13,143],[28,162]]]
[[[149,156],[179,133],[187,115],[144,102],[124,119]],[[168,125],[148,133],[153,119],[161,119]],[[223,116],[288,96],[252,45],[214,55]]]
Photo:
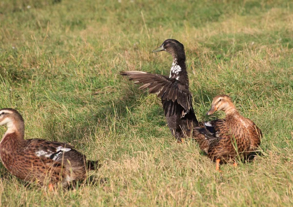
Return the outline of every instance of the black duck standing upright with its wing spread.
[[[169,77],[143,71],[122,71],[120,74],[128,76],[135,84],[142,83],[139,89],[148,88],[148,93],[161,98],[171,134],[178,142],[183,142],[186,132],[190,134],[190,130],[198,126],[192,108],[192,94],[189,91],[184,45],[177,40],[167,39],[152,52],[160,51],[166,51],[173,57]]]

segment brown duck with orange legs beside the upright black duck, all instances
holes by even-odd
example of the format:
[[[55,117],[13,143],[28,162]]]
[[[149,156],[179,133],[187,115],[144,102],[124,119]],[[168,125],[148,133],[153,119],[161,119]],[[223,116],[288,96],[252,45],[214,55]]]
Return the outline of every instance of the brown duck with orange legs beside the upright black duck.
[[[207,115],[216,111],[224,111],[225,119],[200,123],[192,136],[220,171],[220,164],[232,160],[233,166],[237,166],[238,155],[246,159],[255,152],[261,143],[262,132],[250,119],[240,115],[228,95],[213,98]]]

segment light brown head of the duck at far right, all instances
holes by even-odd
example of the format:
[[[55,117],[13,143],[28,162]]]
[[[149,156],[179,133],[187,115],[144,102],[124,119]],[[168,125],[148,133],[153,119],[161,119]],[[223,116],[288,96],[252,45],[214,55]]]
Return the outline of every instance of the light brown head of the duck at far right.
[[[226,114],[228,111],[233,111],[235,106],[232,99],[228,95],[219,95],[213,98],[211,108],[207,115],[213,114],[215,111],[224,111]]]

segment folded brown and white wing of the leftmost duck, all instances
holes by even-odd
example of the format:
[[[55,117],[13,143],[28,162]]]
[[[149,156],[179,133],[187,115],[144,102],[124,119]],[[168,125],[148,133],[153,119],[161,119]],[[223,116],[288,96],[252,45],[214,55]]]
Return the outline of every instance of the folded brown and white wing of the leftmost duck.
[[[49,142],[46,140],[33,139],[30,140],[29,150],[41,159],[49,159],[59,161],[63,157],[64,152],[74,150],[74,148],[66,143]]]

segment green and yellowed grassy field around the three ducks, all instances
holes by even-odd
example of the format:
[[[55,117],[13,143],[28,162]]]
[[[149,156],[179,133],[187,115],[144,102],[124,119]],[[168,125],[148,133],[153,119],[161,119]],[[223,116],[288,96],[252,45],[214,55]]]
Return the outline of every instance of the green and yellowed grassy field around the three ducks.
[[[218,94],[262,130],[264,156],[221,166],[177,144],[160,100],[119,75],[169,74],[181,41],[199,120]],[[48,192],[0,164],[2,206],[292,206],[292,0],[2,0],[0,108],[26,139],[68,142],[99,159],[95,184]],[[5,132],[0,127],[0,136]],[[105,182],[99,182],[105,181]]]

